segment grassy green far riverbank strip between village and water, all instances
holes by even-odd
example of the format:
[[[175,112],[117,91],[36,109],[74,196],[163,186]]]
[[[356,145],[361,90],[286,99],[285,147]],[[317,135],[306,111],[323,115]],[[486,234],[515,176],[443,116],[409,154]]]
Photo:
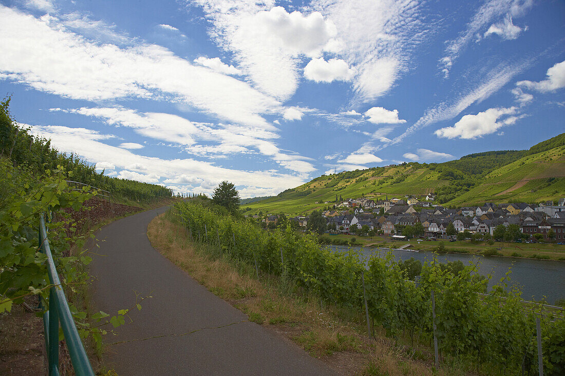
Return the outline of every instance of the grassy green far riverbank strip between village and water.
[[[351,244],[356,247],[377,247],[377,248],[400,248],[406,244],[410,244],[407,248],[415,251],[438,251],[440,243],[443,242],[445,253],[466,253],[471,255],[484,256],[503,256],[503,257],[519,257],[523,259],[540,259],[540,260],[557,260],[565,261],[565,245],[557,243],[510,243],[510,242],[494,242],[490,245],[487,242],[450,242],[450,241],[418,241],[412,239],[410,241],[391,241],[388,237],[358,237],[355,235],[323,235],[324,239],[332,241],[350,242],[355,238],[355,242]]]

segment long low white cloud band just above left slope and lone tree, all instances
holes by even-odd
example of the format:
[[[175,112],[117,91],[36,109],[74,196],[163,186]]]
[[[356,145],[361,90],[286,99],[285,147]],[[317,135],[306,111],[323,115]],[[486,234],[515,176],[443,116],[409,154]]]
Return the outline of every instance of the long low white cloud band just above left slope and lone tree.
[[[202,189],[194,191],[211,191],[211,187],[222,180],[233,182],[236,186],[260,187],[274,191],[282,191],[289,187],[302,185],[305,181],[293,174],[281,174],[272,171],[242,171],[218,167],[213,163],[194,159],[160,159],[133,154],[123,148],[106,145],[104,139],[113,135],[100,134],[84,128],[67,128],[64,126],[33,126],[33,134],[50,138],[52,145],[63,152],[75,152],[92,163],[112,163],[116,169],[123,170],[117,176],[143,179],[144,181],[189,180],[197,177]],[[288,158],[293,158],[292,156]],[[125,171],[124,171],[125,170]],[[134,175],[133,173],[139,174]]]

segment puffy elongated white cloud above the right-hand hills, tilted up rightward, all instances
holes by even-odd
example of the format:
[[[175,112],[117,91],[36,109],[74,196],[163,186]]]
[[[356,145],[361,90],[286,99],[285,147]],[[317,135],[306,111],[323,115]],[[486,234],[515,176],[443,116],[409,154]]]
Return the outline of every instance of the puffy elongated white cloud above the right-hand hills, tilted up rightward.
[[[496,132],[505,125],[514,124],[518,117],[509,116],[502,121],[497,121],[500,117],[514,115],[516,107],[510,108],[489,108],[477,115],[465,115],[455,125],[441,128],[434,132],[437,137],[442,138],[464,138],[475,139],[485,134]]]

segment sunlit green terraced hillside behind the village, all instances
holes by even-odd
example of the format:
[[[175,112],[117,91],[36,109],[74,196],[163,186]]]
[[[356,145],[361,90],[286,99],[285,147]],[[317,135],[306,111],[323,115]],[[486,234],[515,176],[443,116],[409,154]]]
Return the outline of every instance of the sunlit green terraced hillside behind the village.
[[[406,163],[322,175],[279,195],[244,205],[251,213],[298,215],[332,206],[336,199],[437,194],[461,206],[539,202],[565,195],[565,133],[529,150],[489,151],[445,163]]]

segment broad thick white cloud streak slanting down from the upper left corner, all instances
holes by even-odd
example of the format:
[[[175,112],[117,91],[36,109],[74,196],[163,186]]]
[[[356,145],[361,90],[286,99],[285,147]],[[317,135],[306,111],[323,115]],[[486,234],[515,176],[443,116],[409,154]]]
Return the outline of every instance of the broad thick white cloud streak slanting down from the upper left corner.
[[[85,100],[167,98],[267,129],[272,125],[261,114],[280,107],[246,82],[192,65],[157,45],[89,42],[53,18],[37,19],[5,6],[0,19],[2,78],[36,90]]]

